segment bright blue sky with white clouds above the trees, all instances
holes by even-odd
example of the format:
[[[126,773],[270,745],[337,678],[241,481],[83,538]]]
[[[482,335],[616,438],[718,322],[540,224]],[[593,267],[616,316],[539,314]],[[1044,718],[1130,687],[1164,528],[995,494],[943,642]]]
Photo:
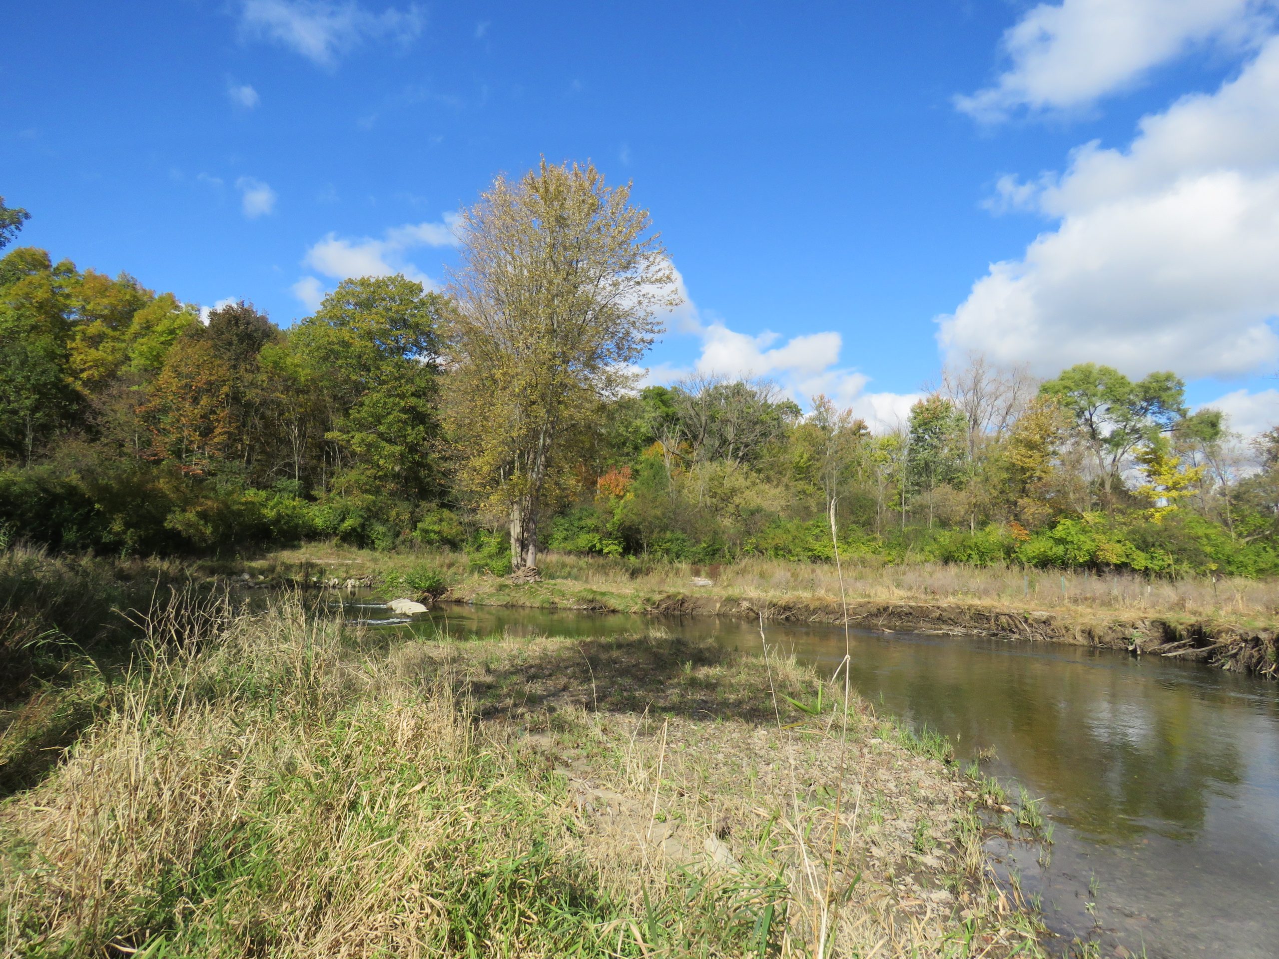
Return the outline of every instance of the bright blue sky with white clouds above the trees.
[[[948,358],[1094,359],[1177,370],[1251,431],[1279,421],[1274,13],[28,4],[0,194],[55,257],[286,326],[347,274],[443,281],[494,174],[592,159],[687,289],[655,378],[762,375],[889,422]]]

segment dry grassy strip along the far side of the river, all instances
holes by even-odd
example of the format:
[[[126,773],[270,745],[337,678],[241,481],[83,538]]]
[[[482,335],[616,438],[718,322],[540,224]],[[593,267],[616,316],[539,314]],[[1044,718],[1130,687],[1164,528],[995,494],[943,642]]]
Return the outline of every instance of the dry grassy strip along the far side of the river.
[[[773,566],[783,564],[771,564]],[[831,589],[833,570],[825,577],[811,575],[811,568],[792,566],[811,581],[816,589],[787,586],[770,588],[753,575],[753,583],[734,582],[733,568],[724,579],[710,586],[693,586],[687,566],[671,566],[661,574],[631,578],[619,564],[551,557],[544,578],[533,583],[510,582],[467,568],[459,554],[413,555],[377,554],[359,550],[313,549],[281,551],[260,560],[235,565],[238,575],[252,582],[329,582],[368,584],[375,589],[414,596],[414,573],[439,570],[448,589],[444,601],[477,606],[581,610],[624,612],[645,616],[738,616],[765,620],[829,623],[843,621],[843,602],[838,587]],[[881,570],[879,581],[863,587],[851,572],[848,616],[854,628],[885,632],[923,632],[950,635],[990,635],[1003,639],[1055,642],[1126,650],[1138,655],[1168,656],[1204,662],[1219,669],[1279,679],[1279,610],[1256,604],[1237,612],[1214,611],[1207,604],[1183,610],[1159,610],[1154,604],[1108,606],[1105,591],[1096,591],[1087,604],[1072,604],[1067,578],[1060,577],[1063,600],[1051,605],[1032,596],[990,598],[954,595],[929,595],[930,587],[912,589],[893,583],[893,570]],[[961,573],[962,575],[962,573]],[[258,579],[261,578],[261,579]],[[1037,577],[1039,578],[1039,577]],[[1028,584],[1030,577],[1010,572],[1013,591]],[[1046,577],[1055,587],[1058,577]],[[1095,584],[1091,578],[1072,581]],[[962,583],[961,583],[962,586]],[[822,588],[825,587],[825,588]],[[1200,586],[1206,591],[1209,587]],[[1225,587],[1223,587],[1225,588]],[[1027,589],[1028,592],[1028,589]],[[1216,591],[1212,589],[1215,593]],[[1140,591],[1138,591],[1140,593]],[[1102,602],[1095,601],[1100,595]],[[1149,593],[1147,593],[1149,595]]]

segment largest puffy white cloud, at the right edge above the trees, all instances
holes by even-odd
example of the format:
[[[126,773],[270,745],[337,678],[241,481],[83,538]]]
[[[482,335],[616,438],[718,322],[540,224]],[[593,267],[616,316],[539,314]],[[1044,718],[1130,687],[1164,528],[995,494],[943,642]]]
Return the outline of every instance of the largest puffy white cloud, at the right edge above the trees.
[[[998,191],[993,206],[1056,226],[940,318],[945,352],[1041,375],[1105,361],[1232,376],[1279,361],[1279,38],[1218,91],[1142,119],[1126,150],[1087,143],[1064,174]]]

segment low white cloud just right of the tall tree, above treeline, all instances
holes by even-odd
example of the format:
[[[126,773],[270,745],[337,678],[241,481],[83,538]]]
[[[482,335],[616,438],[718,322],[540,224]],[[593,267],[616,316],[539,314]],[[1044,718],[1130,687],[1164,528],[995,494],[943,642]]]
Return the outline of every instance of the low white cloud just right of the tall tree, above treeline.
[[[824,394],[879,431],[906,423],[911,407],[921,399],[917,393],[868,393],[868,376],[840,366],[843,336],[835,331],[784,338],[771,330],[739,332],[718,317],[703,318],[688,295],[683,276],[671,270],[683,303],[669,315],[666,326],[696,336],[701,349],[689,366],[648,367],[643,375],[646,384],[670,384],[691,373],[766,378],[801,407],[807,408],[813,396]]]

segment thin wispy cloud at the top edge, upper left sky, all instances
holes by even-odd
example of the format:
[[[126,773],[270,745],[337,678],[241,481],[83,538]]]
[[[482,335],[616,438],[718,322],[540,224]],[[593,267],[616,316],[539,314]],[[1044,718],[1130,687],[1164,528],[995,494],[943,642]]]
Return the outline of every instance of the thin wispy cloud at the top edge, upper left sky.
[[[308,60],[331,66],[366,40],[408,45],[422,32],[417,5],[373,13],[354,0],[243,0],[240,29],[256,40],[271,40]]]

